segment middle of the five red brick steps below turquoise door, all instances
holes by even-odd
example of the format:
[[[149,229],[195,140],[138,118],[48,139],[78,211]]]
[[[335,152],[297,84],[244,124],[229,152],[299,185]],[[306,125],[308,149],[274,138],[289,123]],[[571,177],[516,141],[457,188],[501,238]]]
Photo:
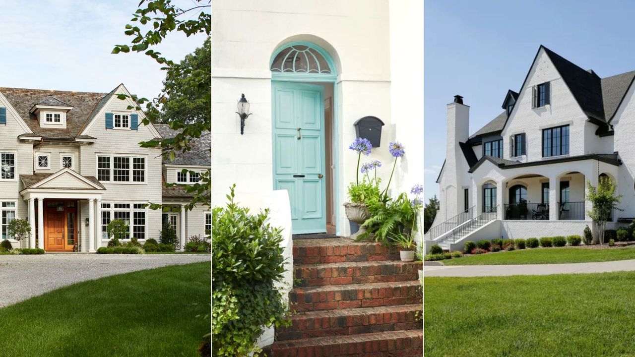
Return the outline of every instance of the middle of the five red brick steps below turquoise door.
[[[416,278],[415,278],[416,279]],[[419,304],[418,280],[294,288],[289,300],[295,311],[348,309],[351,307]]]

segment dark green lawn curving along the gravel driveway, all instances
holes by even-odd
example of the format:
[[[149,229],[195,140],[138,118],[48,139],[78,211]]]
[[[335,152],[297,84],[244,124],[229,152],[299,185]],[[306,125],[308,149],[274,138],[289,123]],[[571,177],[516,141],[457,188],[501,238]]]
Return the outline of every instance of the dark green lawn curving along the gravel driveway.
[[[210,312],[210,265],[84,281],[4,307],[0,356],[200,356],[211,328],[195,316]]]

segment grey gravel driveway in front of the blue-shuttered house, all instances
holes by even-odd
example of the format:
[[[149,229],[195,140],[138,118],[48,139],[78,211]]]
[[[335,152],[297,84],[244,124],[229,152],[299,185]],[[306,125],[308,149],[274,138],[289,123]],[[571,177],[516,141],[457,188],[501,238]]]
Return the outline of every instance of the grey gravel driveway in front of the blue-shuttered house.
[[[0,307],[79,281],[210,259],[201,254],[0,255]]]

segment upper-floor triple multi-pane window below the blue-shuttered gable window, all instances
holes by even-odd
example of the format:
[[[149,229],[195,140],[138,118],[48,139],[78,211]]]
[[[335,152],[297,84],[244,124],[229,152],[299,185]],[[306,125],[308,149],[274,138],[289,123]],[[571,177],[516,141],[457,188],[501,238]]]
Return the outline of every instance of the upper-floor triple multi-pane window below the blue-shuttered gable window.
[[[110,165],[112,163],[112,165]],[[145,158],[98,156],[97,179],[102,182],[145,182]]]

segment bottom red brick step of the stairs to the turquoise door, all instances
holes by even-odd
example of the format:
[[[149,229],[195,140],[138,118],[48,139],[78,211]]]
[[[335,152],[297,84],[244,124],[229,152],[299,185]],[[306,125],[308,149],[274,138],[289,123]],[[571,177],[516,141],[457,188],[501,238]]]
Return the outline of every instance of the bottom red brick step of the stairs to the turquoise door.
[[[271,351],[273,357],[413,357],[422,356],[423,343],[422,330],[406,330],[278,341]]]

